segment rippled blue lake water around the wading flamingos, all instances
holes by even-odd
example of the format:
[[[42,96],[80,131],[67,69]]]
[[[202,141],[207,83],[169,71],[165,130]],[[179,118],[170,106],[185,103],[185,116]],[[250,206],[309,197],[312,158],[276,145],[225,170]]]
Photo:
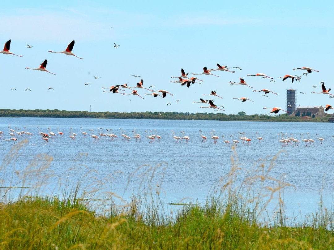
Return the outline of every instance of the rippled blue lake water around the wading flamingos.
[[[25,178],[26,182],[19,181],[24,169],[32,166],[30,168],[36,170],[39,166],[38,172],[48,175],[42,181],[43,188],[39,192],[47,195],[61,193],[66,179],[69,183],[76,183],[81,179],[84,189],[98,189],[93,198],[107,197],[107,192],[111,191],[128,202],[132,193],[136,194],[143,188],[144,179],[154,189],[159,186],[160,197],[166,204],[196,200],[203,202],[210,189],[231,170],[231,156],[236,160],[237,155],[240,174],[235,184],[238,184],[248,176],[247,171],[257,168],[261,163],[264,163],[263,169],[267,171],[273,157],[284,150],[273,161],[269,176],[284,178],[285,182],[294,185],[285,188],[283,193],[287,214],[292,216],[300,211],[303,215],[315,212],[320,202],[319,192],[322,192],[324,205],[332,208],[333,123],[1,117],[0,130],[4,132],[2,138],[11,137],[8,134],[8,123],[11,129],[17,131],[20,128],[34,136],[17,152],[10,151],[17,147],[12,141],[0,141],[3,186],[33,186],[41,181],[36,172],[30,172]],[[45,133],[48,133],[47,128],[50,127],[51,132],[56,134],[59,127],[64,136],[57,136],[45,143],[38,135],[37,126]],[[107,128],[113,129],[112,133],[119,137],[113,141],[108,138],[93,142],[89,135],[83,137],[80,127],[88,134],[93,129],[96,135],[99,133],[97,128],[102,128],[103,133],[107,133]],[[69,128],[77,134],[75,140],[69,138]],[[132,130],[136,128],[136,132],[142,137],[141,141],[136,142],[134,138],[130,142],[122,140],[120,128],[131,137]],[[162,137],[160,142],[149,143],[150,140],[146,138],[144,131],[153,129],[156,129],[155,134]],[[206,142],[202,142],[200,129],[208,137]],[[190,141],[176,143],[171,130],[177,136],[182,136],[181,131],[184,131]],[[239,140],[240,143],[233,150],[231,145],[223,143],[222,138],[214,144],[209,137],[211,130],[230,141],[229,135],[232,134],[234,139],[239,140],[237,132],[245,132],[245,136],[252,141],[247,145]],[[255,132],[259,132],[259,136],[264,138],[261,144],[256,139]],[[306,147],[301,141],[299,146],[282,147],[282,143],[278,141],[279,132],[288,133],[289,137],[294,134],[300,141],[300,133],[304,133],[304,138],[307,138],[306,133],[309,132],[315,143]],[[316,133],[324,138],[322,144],[317,140]],[[22,142],[25,137],[17,138]],[[41,154],[52,156],[52,161],[45,168],[46,159],[36,158]],[[144,166],[145,164],[147,165]],[[161,166],[154,168],[158,164]],[[154,173],[150,166],[155,169]],[[259,185],[261,183],[257,184]],[[268,180],[264,186],[266,185],[275,185],[275,181]],[[17,191],[13,191],[10,199],[15,198],[15,192]]]

